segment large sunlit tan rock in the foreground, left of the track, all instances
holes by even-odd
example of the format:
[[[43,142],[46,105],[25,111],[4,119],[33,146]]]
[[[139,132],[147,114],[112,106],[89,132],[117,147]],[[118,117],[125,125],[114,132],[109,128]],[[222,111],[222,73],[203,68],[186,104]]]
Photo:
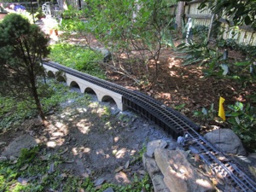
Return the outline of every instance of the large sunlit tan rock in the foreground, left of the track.
[[[154,159],[164,175],[164,182],[171,192],[216,191],[208,177],[192,166],[188,154],[182,150],[156,148]]]

